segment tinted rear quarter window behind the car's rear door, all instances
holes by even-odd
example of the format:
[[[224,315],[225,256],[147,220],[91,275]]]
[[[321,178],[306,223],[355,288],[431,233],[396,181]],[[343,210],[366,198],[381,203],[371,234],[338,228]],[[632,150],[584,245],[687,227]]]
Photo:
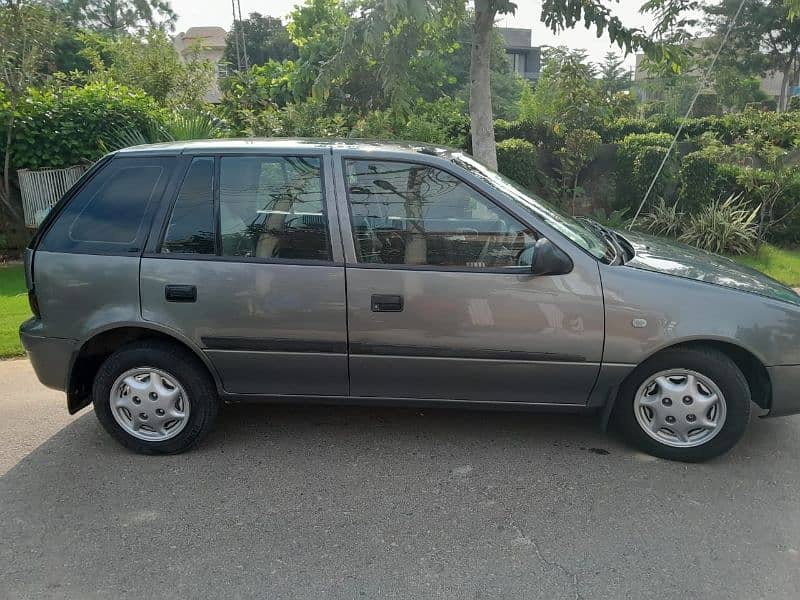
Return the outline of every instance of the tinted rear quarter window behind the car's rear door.
[[[90,254],[141,251],[174,164],[172,157],[115,158],[63,208],[39,248]]]

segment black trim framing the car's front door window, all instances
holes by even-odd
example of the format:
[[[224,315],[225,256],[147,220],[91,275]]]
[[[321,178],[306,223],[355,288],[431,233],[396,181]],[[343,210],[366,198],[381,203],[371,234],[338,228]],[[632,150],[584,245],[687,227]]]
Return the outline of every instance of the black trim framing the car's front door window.
[[[519,277],[520,275],[528,275],[533,277],[533,273],[531,271],[531,267],[492,267],[488,269],[481,269],[479,267],[457,267],[457,266],[441,266],[441,265],[406,265],[406,264],[383,264],[383,263],[364,263],[358,262],[358,252],[356,250],[356,239],[355,239],[355,229],[353,226],[353,205],[350,202],[350,190],[347,186],[347,168],[346,162],[347,161],[361,161],[361,162],[393,162],[393,163],[403,163],[403,164],[410,164],[410,165],[422,165],[425,167],[429,167],[432,169],[439,169],[440,171],[444,171],[448,175],[451,175],[459,182],[463,183],[470,187],[476,194],[486,200],[490,205],[494,206],[498,210],[502,211],[503,213],[509,215],[514,220],[518,221],[522,225],[530,228],[539,238],[547,237],[543,235],[537,227],[531,225],[531,223],[527,219],[520,218],[515,212],[509,210],[502,204],[498,203],[494,198],[489,196],[488,194],[484,193],[483,190],[479,189],[475,185],[473,185],[470,181],[466,180],[460,174],[454,172],[453,169],[448,169],[446,166],[442,165],[439,162],[429,162],[425,160],[413,160],[413,159],[403,159],[403,158],[391,158],[391,157],[384,157],[381,155],[369,156],[369,155],[357,155],[351,153],[342,153],[339,155],[339,169],[341,172],[342,177],[342,188],[344,193],[344,201],[347,204],[347,214],[349,217],[347,228],[350,232],[350,242],[352,244],[353,249],[353,256],[355,257],[356,261],[351,262],[349,260],[345,260],[345,266],[349,269],[381,269],[384,271],[431,271],[431,272],[442,272],[442,273],[485,273],[485,274],[494,274],[494,275],[514,275]],[[537,238],[538,239],[538,238]],[[550,238],[547,238],[550,239]],[[552,240],[551,240],[552,242]]]

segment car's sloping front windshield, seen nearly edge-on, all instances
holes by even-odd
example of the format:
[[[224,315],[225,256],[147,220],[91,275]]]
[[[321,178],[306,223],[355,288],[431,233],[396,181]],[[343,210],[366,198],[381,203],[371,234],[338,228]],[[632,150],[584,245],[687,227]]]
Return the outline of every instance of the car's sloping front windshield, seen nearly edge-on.
[[[450,159],[458,166],[467,169],[473,175],[522,203],[526,208],[541,217],[550,227],[575,242],[595,258],[606,262],[614,259],[615,249],[588,225],[581,223],[578,219],[562,212],[532,192],[488,169],[465,154],[452,154]]]

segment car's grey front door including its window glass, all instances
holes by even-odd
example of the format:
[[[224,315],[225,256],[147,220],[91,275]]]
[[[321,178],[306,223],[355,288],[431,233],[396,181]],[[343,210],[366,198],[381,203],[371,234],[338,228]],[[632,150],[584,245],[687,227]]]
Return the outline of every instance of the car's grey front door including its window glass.
[[[596,262],[533,276],[542,234],[419,161],[335,154],[351,394],[585,404],[603,349]]]

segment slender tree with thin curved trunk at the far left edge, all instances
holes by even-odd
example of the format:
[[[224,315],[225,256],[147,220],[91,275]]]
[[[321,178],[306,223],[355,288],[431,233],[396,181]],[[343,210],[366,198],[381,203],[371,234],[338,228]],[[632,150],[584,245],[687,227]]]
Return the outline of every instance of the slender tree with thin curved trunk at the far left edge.
[[[41,67],[52,53],[57,32],[52,12],[38,3],[7,0],[0,6],[0,123],[5,132],[0,204],[20,221],[11,190],[11,145],[17,109],[28,88],[42,77]]]

